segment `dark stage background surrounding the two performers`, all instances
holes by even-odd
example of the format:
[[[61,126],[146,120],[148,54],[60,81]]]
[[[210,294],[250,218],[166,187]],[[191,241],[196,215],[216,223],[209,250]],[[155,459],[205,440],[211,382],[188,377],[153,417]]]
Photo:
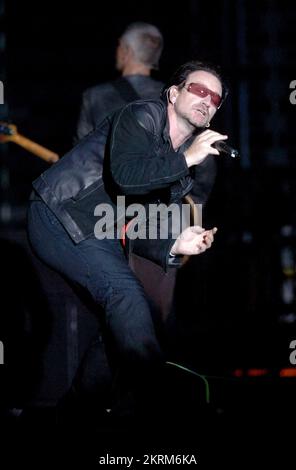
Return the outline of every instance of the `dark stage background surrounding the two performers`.
[[[231,92],[213,127],[229,135],[241,159],[219,158],[204,211],[217,239],[180,272],[174,359],[221,379],[212,385],[220,408],[233,399],[232,384],[247,383],[234,399],[238,409],[256,402],[281,410],[296,381],[280,377],[296,370],[289,361],[296,339],[295,2],[2,0],[0,15],[0,117],[60,155],[72,146],[82,91],[116,77],[117,37],[129,22],[162,30],[162,80],[191,58],[222,66]],[[9,409],[50,406],[98,326],[26,241],[31,181],[48,164],[14,143],[0,152],[0,393]],[[258,381],[264,393],[250,393]]]

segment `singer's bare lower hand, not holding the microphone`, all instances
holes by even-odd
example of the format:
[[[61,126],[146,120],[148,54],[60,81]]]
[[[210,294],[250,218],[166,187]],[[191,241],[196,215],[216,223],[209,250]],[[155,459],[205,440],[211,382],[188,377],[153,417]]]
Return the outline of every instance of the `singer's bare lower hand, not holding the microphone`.
[[[205,230],[199,225],[187,227],[178,236],[171,249],[172,255],[199,255],[211,247],[217,227]]]

